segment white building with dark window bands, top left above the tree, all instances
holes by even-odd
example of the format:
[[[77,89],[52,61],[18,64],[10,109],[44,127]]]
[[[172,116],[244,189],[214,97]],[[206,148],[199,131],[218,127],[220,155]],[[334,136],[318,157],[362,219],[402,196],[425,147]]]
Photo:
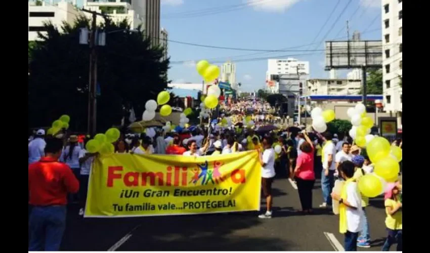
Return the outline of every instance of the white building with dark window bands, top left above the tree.
[[[28,1],[28,40],[36,40],[37,32],[44,32],[44,22],[51,21],[61,30],[63,21],[72,24],[79,15],[76,0]]]

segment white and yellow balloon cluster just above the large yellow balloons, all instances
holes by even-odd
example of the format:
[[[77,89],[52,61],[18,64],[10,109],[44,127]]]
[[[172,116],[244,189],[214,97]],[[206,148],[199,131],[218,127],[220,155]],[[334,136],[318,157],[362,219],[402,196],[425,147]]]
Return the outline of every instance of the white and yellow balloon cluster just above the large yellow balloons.
[[[366,106],[364,104],[357,104],[354,108],[349,108],[347,111],[348,116],[351,118],[353,124],[349,134],[354,139],[357,146],[364,148],[369,144],[373,138],[370,134],[373,126],[373,119],[366,114]]]

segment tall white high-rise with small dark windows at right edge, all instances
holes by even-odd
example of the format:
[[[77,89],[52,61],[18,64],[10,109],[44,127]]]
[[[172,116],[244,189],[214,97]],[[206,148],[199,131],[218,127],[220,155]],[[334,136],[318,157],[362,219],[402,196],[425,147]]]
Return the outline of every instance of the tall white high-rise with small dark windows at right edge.
[[[382,0],[382,81],[383,106],[386,112],[398,116],[398,125],[402,125],[402,77],[403,59],[403,1]]]

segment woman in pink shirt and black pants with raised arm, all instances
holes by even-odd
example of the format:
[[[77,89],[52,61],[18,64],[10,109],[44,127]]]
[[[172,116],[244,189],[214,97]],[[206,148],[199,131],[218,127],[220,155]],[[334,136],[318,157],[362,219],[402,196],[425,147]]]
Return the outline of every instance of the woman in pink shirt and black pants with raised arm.
[[[297,183],[298,197],[302,204],[302,212],[312,212],[312,189],[315,183],[314,172],[314,145],[309,139],[309,136],[304,133],[306,142],[300,145],[302,152],[298,155],[294,177]]]

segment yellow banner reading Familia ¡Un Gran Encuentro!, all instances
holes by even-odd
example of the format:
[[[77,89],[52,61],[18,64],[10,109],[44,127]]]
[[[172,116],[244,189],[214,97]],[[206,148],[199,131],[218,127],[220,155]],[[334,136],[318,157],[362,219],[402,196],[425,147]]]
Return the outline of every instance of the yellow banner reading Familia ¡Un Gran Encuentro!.
[[[260,209],[256,151],[221,156],[112,154],[93,163],[85,217]]]

